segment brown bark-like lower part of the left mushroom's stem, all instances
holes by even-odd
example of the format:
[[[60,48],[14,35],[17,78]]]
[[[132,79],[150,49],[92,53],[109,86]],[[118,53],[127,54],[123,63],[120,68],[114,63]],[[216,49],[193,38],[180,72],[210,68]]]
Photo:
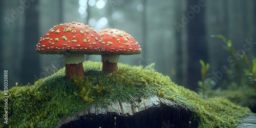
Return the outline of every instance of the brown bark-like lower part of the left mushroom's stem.
[[[68,79],[71,79],[72,76],[82,77],[82,78],[86,77],[86,74],[84,74],[83,72],[82,62],[78,64],[70,64],[70,65],[66,63],[66,77]]]

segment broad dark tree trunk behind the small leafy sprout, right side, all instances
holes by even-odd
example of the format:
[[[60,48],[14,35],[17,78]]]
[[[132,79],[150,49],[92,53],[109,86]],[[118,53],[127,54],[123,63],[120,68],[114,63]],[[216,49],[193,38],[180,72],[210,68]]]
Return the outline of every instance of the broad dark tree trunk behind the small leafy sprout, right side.
[[[200,59],[208,61],[206,31],[204,23],[205,6],[199,5],[199,1],[187,1],[187,83],[188,89],[196,91],[198,80],[201,78]],[[188,86],[189,85],[189,86]]]

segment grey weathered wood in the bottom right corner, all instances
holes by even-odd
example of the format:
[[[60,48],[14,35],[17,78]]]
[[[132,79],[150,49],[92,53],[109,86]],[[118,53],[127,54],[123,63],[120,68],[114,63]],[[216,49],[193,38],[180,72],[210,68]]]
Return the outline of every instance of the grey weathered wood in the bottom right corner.
[[[239,124],[238,127],[256,127],[256,114],[242,118],[243,123]]]

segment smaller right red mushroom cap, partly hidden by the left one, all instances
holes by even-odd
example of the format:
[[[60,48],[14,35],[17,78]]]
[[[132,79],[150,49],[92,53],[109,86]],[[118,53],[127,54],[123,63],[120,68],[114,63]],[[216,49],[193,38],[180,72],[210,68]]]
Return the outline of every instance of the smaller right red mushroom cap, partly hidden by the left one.
[[[119,55],[140,54],[141,48],[138,42],[124,31],[118,29],[103,29],[98,32],[103,39],[104,54],[115,53]]]

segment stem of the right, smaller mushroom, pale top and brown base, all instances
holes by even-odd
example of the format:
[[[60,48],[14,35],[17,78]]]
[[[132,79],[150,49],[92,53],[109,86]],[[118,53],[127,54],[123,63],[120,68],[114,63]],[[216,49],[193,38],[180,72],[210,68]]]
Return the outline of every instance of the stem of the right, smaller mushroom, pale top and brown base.
[[[102,71],[103,72],[116,72],[117,62],[119,60],[119,55],[101,55],[102,61]]]

